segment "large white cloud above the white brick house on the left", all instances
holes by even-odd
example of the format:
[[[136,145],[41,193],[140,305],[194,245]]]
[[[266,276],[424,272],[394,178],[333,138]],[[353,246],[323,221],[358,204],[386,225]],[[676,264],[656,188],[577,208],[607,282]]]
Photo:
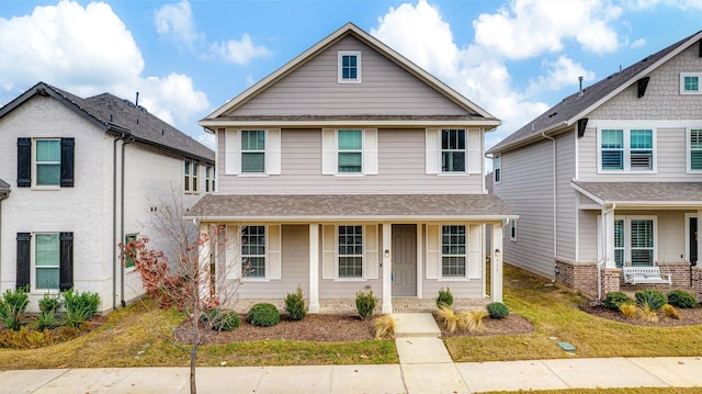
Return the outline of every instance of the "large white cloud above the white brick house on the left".
[[[188,76],[144,78],[144,58],[132,33],[102,2],[83,8],[64,0],[36,7],[30,15],[0,18],[0,47],[2,101],[38,81],[80,97],[110,92],[134,100],[139,91],[140,104],[181,130],[192,127],[191,117],[210,106]]]

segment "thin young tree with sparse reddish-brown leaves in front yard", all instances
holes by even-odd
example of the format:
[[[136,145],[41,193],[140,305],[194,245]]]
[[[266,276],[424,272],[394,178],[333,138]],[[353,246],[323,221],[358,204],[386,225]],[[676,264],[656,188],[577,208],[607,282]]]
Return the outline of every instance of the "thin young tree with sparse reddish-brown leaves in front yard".
[[[173,202],[158,204],[147,226],[160,245],[151,248],[149,238],[143,236],[120,246],[124,263],[133,263],[140,273],[147,295],[161,308],[177,307],[190,317],[188,337],[192,344],[185,349],[190,352],[190,392],[195,394],[200,345],[224,314],[231,313],[219,306],[234,305],[241,284],[242,274],[233,275],[236,279],[226,275],[227,270],[240,270],[235,261],[241,237],[231,232],[228,237],[224,225],[184,221],[184,213],[173,191]]]

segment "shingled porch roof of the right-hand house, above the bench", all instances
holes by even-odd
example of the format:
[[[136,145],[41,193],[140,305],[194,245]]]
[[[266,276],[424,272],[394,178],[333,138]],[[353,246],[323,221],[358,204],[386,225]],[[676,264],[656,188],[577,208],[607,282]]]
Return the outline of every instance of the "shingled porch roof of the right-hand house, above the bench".
[[[576,182],[570,185],[600,205],[702,207],[702,182]]]

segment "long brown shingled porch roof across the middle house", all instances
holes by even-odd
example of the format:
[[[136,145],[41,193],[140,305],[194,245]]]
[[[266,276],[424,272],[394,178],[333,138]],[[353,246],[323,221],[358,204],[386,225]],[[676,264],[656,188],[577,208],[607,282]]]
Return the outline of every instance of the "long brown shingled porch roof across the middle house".
[[[495,194],[207,194],[185,218],[496,222],[518,216]]]

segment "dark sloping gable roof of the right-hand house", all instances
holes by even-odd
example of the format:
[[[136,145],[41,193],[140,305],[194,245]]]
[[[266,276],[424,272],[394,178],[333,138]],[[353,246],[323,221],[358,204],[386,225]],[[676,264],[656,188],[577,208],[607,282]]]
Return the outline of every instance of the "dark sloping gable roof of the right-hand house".
[[[540,138],[542,133],[568,127],[585,117],[598,106],[619,94],[622,90],[636,83],[673,56],[695,43],[702,45],[702,31],[699,31],[656,54],[649,55],[638,63],[614,72],[605,79],[563,99],[536,119],[532,120],[507,138],[487,150],[488,154],[509,150]],[[702,50],[702,48],[701,48]]]

